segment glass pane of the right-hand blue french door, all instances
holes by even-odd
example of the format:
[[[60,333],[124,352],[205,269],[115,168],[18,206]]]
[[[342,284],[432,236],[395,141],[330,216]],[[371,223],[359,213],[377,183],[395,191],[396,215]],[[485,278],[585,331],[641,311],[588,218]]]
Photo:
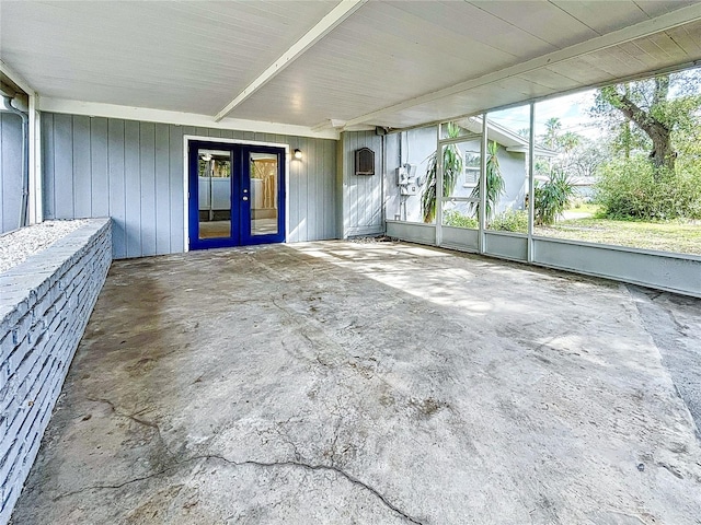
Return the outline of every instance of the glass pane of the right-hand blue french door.
[[[251,235],[277,233],[277,155],[251,153]]]

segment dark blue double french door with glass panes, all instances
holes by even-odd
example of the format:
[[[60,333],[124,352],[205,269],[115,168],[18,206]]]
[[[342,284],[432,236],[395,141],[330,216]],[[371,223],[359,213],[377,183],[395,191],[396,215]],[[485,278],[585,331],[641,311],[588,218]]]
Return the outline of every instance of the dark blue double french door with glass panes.
[[[188,142],[189,249],[285,241],[285,149]]]

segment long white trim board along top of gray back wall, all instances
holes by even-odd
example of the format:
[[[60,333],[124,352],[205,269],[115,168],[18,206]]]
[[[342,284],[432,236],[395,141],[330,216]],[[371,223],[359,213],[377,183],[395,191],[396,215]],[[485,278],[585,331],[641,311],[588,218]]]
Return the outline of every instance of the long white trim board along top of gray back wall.
[[[200,128],[230,129],[235,131],[253,131],[258,133],[289,135],[294,137],[310,137],[313,139],[338,140],[340,133],[335,129],[312,131],[304,126],[241,118],[225,118],[215,121],[209,115],[195,113],[170,112],[147,107],[119,106],[99,102],[69,101],[66,98],[39,97],[38,109],[49,113],[69,115],[85,115],[89,117],[122,118],[146,122],[173,124],[176,126],[196,126]]]

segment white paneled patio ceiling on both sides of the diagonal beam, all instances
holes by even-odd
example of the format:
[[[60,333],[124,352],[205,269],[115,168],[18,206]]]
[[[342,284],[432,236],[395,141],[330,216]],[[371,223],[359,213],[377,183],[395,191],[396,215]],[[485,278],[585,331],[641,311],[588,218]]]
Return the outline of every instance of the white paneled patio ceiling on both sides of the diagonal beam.
[[[45,98],[214,121],[337,3],[0,0],[0,59]],[[376,0],[340,20],[229,117],[407,127],[701,59],[687,0]]]

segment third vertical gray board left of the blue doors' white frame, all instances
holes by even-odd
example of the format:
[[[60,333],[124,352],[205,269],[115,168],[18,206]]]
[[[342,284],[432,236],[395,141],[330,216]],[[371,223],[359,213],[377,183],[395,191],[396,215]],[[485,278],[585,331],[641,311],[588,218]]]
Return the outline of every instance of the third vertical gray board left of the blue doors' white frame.
[[[141,254],[156,255],[156,125],[141,122]]]

